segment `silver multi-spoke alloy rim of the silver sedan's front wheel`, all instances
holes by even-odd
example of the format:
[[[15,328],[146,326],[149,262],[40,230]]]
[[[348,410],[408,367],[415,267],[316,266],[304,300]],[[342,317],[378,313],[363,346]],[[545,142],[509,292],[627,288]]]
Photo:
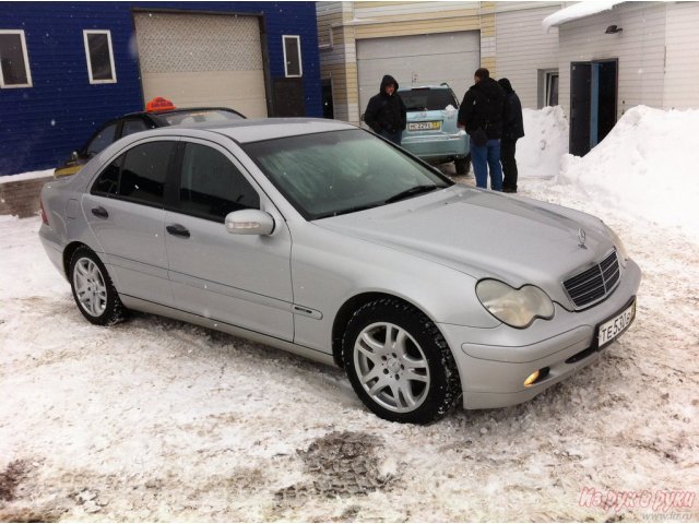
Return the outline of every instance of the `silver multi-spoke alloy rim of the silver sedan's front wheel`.
[[[371,398],[395,413],[419,407],[429,392],[429,368],[422,348],[401,326],[371,324],[354,346],[359,382]]]

